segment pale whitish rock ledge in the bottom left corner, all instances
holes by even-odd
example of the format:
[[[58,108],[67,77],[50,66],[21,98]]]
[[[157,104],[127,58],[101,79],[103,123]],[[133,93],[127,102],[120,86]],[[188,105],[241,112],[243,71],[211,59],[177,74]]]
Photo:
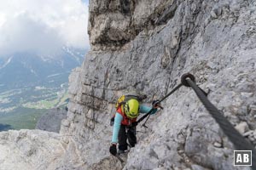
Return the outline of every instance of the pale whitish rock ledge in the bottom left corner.
[[[65,153],[61,136],[39,130],[0,133],[0,169],[54,169]]]

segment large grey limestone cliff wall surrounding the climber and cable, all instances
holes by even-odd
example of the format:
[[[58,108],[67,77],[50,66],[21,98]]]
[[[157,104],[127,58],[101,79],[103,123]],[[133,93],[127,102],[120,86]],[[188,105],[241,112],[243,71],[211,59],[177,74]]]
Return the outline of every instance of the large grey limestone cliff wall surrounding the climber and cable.
[[[255,9],[241,0],[91,0],[92,49],[69,77],[67,147],[55,168],[249,169],[233,166],[232,144],[189,88],[162,102],[148,129],[138,126],[125,166],[108,152],[109,118],[120,94],[148,94],[149,103],[190,72],[255,144]]]

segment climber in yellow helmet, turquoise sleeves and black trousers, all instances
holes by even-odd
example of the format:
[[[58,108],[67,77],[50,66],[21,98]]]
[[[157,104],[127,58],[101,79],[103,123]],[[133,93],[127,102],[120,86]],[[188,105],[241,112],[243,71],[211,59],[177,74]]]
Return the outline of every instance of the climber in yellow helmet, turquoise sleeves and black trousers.
[[[153,115],[157,108],[160,108],[160,103],[158,100],[155,100],[152,103]],[[125,153],[127,150],[127,139],[130,147],[134,147],[137,144],[136,137],[136,126],[132,126],[133,123],[136,123],[137,116],[139,113],[148,113],[151,108],[145,105],[140,105],[137,99],[129,99],[125,104],[119,105],[116,110],[113,122],[113,136],[109,152],[116,156],[117,154],[117,144],[119,143],[119,154]]]

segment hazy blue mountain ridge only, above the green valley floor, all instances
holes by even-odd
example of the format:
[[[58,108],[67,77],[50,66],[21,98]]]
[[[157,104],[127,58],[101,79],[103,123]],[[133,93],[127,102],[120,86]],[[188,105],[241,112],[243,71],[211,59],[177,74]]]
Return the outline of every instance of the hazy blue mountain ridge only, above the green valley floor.
[[[86,50],[63,47],[52,55],[32,53],[0,56],[0,89],[67,82],[70,71],[81,65]]]

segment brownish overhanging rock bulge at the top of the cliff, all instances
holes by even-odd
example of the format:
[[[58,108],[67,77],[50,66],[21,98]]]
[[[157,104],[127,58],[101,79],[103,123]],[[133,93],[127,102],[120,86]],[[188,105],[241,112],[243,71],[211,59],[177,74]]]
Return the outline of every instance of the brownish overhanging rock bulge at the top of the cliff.
[[[172,19],[180,2],[159,1],[92,1],[88,32],[93,49],[119,49],[141,31],[153,30]]]

